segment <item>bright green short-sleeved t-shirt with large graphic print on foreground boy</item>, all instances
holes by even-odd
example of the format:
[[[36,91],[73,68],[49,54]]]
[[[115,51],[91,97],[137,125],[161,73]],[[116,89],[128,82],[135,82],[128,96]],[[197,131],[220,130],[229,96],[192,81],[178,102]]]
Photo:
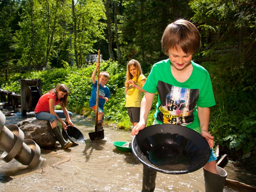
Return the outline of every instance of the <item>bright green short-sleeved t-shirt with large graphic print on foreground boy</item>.
[[[200,126],[197,106],[215,105],[208,72],[193,61],[191,63],[192,74],[182,83],[172,75],[169,59],[153,65],[143,89],[149,93],[158,91],[154,117],[159,124],[178,124],[194,129]]]

